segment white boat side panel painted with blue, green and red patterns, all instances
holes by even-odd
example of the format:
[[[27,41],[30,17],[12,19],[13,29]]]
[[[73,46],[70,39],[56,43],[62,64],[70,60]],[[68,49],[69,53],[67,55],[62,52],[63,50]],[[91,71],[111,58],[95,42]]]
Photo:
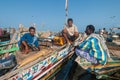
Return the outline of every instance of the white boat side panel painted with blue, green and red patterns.
[[[54,52],[52,56],[46,58],[43,61],[38,62],[32,67],[19,72],[17,75],[12,77],[12,80],[31,80],[42,78],[47,74],[54,66],[57,66],[56,63],[67,56],[70,52],[71,48],[66,47],[60,52]]]

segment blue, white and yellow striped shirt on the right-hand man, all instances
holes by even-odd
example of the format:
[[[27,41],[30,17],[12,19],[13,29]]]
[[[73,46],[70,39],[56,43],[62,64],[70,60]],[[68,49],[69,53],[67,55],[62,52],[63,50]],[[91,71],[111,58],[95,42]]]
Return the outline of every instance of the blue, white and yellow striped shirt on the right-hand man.
[[[99,63],[105,64],[107,61],[107,53],[102,48],[101,43],[95,37],[90,37],[84,40],[80,45],[79,48],[81,50],[87,51],[91,57],[95,57]]]

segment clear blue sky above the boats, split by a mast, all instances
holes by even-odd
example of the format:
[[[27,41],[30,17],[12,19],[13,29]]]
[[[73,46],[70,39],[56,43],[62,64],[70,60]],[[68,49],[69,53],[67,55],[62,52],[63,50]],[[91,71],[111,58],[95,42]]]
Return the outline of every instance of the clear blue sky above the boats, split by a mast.
[[[68,0],[68,17],[79,32],[87,25],[120,27],[120,0]],[[0,0],[0,27],[30,27],[38,31],[60,31],[65,24],[65,0]]]

